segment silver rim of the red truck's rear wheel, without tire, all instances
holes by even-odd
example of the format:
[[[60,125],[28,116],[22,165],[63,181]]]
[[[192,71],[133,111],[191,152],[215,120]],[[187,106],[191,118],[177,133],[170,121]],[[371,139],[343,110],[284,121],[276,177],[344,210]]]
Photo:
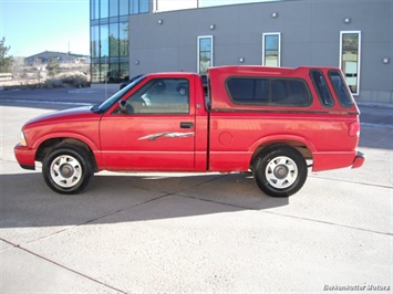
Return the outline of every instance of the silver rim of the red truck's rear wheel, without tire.
[[[279,156],[270,160],[265,172],[268,182],[277,189],[290,187],[298,178],[298,166],[287,157]]]

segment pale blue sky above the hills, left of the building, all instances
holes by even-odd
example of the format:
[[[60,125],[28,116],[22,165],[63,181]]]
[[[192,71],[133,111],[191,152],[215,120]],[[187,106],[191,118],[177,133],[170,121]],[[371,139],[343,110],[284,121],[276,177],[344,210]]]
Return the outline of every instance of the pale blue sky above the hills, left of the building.
[[[9,54],[90,54],[89,0],[0,0],[0,39]]]

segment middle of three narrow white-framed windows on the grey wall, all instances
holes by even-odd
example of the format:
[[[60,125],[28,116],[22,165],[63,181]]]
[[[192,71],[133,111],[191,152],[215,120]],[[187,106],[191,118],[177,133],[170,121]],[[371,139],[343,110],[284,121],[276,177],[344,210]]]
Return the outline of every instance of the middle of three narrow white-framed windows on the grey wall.
[[[262,65],[280,66],[281,60],[281,34],[263,33]]]

